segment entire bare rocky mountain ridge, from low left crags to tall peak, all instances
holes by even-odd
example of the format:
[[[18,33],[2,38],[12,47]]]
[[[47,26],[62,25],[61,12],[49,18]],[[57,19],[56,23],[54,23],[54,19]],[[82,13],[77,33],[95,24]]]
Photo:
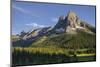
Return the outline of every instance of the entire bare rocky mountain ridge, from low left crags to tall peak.
[[[59,34],[75,34],[75,36],[77,36],[77,34],[81,32],[94,36],[96,30],[95,27],[79,19],[75,12],[69,11],[67,16],[59,17],[57,24],[53,28],[43,27],[31,30],[29,32],[23,31],[21,32],[21,34],[19,34],[19,39],[16,39],[16,41],[12,41],[12,43],[14,44],[14,46],[17,46],[17,44],[18,46],[20,46],[20,44],[21,46],[30,46],[32,43],[38,41],[38,39],[40,40],[40,38],[43,38],[44,41],[46,41],[46,39],[44,38],[46,36],[46,38],[49,38],[48,36],[58,36]],[[70,35],[66,36],[68,37]]]

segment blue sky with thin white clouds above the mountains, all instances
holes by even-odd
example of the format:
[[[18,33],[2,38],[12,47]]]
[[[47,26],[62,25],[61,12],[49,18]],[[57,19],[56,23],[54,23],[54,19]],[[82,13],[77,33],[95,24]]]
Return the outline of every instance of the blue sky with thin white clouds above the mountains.
[[[95,6],[13,1],[11,7],[12,34],[54,26],[59,16],[67,16],[70,10],[81,20],[95,26]]]

